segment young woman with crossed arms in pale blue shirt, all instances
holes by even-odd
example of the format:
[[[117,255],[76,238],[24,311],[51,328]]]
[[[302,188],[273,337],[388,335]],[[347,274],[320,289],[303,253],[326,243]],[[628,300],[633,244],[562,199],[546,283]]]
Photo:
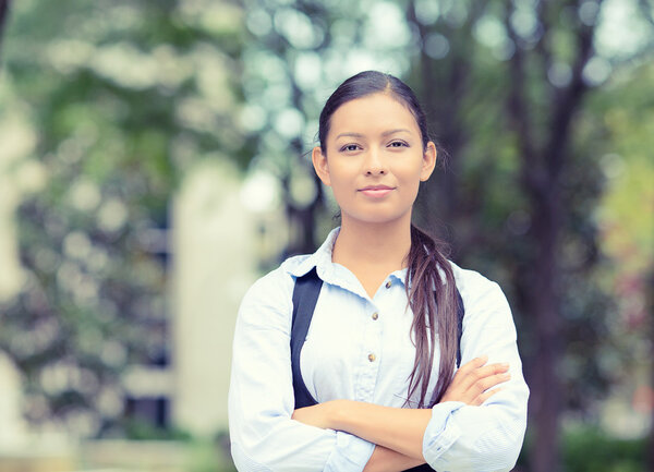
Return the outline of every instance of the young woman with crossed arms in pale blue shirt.
[[[327,100],[318,136],[313,165],[334,191],[341,226],[243,299],[229,395],[234,463],[240,471],[403,471],[425,462],[421,470],[510,470],[529,397],[516,328],[499,287],[447,261],[411,223],[437,158],[414,94],[391,75],[360,73]],[[322,289],[300,377],[317,404],[299,408],[293,290],[312,270]]]

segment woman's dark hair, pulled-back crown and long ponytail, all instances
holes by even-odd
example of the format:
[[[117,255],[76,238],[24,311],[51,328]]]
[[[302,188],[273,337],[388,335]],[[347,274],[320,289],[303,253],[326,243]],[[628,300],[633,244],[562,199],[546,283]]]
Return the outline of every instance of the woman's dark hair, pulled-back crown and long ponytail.
[[[343,104],[372,94],[389,94],[415,118],[423,147],[429,140],[427,120],[413,90],[399,78],[377,71],[361,72],[338,86],[320,112],[318,140],[327,153],[327,134],[334,112]],[[457,290],[452,268],[443,253],[445,244],[411,225],[411,249],[407,256],[407,296],[413,311],[411,329],[415,360],[409,377],[411,398],[420,387],[417,408],[436,404],[451,383],[458,350]],[[437,310],[438,306],[438,310]],[[438,330],[436,331],[436,326]],[[438,332],[440,363],[432,398],[426,398],[434,365],[434,339]]]

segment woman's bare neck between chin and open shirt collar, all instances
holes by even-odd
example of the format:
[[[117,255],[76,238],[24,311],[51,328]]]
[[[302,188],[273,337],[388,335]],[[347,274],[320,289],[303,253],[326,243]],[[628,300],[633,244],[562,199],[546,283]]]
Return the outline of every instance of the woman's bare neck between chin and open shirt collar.
[[[375,268],[385,278],[407,266],[411,249],[411,218],[368,223],[343,217],[331,261],[358,271]]]

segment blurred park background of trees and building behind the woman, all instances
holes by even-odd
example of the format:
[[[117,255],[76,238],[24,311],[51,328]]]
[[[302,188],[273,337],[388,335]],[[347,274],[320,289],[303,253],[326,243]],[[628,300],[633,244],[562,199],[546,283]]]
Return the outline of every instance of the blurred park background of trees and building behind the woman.
[[[306,153],[367,69],[511,303],[516,470],[654,471],[654,1],[0,0],[0,471],[233,470],[239,302],[336,225]]]

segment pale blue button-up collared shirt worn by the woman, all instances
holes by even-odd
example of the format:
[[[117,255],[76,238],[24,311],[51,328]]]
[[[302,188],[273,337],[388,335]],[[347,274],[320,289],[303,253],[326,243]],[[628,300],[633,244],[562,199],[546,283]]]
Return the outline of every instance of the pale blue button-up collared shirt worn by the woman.
[[[375,447],[344,432],[291,420],[291,298],[295,278],[313,267],[324,283],[300,361],[308,391],[318,402],[351,399],[415,408],[416,398],[407,398],[415,355],[407,269],[390,274],[371,299],[350,270],[331,262],[338,231],[314,254],[291,257],[257,280],[243,299],[229,391],[231,451],[239,471],[359,472]],[[486,354],[489,363],[509,363],[511,379],[481,407],[434,406],[423,455],[441,472],[509,471],[522,447],[529,397],[511,311],[497,283],[455,264],[452,269],[465,307],[461,365]],[[437,377],[438,352],[428,396]]]

